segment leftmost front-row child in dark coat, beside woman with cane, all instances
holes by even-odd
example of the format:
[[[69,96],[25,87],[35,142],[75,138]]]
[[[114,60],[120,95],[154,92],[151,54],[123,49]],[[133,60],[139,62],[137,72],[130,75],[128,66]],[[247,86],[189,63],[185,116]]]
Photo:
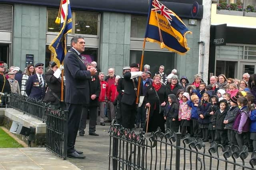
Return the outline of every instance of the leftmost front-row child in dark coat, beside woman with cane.
[[[176,103],[174,94],[168,95],[168,102],[164,109],[164,119],[166,120],[166,129],[171,129],[172,132],[178,132],[180,122],[178,121],[179,106]]]

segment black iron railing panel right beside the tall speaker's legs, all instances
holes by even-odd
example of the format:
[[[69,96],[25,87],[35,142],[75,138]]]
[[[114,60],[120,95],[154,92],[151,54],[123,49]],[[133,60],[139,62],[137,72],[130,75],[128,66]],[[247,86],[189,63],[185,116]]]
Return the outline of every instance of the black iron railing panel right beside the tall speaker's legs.
[[[66,160],[68,111],[46,107],[46,149]]]

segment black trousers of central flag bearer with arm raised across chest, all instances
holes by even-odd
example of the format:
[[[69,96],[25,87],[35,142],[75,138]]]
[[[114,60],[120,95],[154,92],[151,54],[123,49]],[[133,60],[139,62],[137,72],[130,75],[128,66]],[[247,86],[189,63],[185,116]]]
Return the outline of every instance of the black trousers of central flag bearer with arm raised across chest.
[[[135,123],[136,106],[122,103],[122,125],[124,128],[132,129]]]

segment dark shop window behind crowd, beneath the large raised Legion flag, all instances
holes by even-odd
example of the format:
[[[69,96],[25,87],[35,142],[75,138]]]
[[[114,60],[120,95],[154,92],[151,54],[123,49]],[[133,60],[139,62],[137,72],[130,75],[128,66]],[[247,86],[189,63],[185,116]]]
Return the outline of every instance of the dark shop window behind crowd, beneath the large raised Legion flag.
[[[140,63],[142,51],[130,51],[130,63]],[[153,78],[154,74],[158,72],[159,66],[164,65],[164,73],[170,74],[174,68],[175,53],[144,51],[144,64],[150,65],[150,72]],[[143,69],[142,69],[143,70]]]

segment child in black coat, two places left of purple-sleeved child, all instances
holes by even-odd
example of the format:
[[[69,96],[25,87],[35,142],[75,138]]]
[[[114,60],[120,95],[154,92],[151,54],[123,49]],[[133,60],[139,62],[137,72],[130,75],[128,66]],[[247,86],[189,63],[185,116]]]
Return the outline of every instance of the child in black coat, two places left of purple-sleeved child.
[[[219,109],[215,112],[215,139],[216,143],[221,144],[223,146],[228,144],[228,132],[227,129],[224,129],[225,124],[223,123],[224,118],[227,114],[228,102],[224,100],[220,100]]]

